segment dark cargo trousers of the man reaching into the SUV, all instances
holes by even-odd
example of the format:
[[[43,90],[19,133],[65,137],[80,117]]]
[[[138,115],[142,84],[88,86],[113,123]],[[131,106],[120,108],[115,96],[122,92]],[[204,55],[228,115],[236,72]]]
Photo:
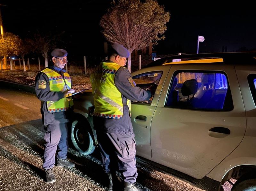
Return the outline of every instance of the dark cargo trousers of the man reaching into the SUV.
[[[134,134],[127,136],[121,133],[97,131],[97,140],[105,173],[115,172],[119,169],[125,182],[136,182],[138,173]]]

